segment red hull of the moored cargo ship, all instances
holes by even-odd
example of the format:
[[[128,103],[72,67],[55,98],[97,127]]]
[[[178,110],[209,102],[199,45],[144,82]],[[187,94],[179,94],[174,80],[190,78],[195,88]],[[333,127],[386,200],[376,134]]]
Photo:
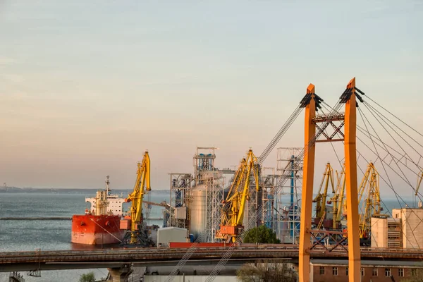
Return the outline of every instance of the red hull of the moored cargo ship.
[[[119,227],[121,216],[72,216],[71,242],[83,245],[121,243],[124,235]]]

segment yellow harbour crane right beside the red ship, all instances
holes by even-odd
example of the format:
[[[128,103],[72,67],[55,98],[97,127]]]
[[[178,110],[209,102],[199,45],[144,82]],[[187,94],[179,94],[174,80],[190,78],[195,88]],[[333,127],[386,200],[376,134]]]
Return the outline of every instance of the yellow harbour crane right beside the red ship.
[[[147,240],[142,217],[142,200],[150,190],[150,159],[148,152],[145,151],[142,161],[137,164],[137,180],[133,192],[125,199],[125,202],[131,202],[129,210],[130,231],[125,235],[125,238],[129,239],[130,234],[130,244],[144,244]]]

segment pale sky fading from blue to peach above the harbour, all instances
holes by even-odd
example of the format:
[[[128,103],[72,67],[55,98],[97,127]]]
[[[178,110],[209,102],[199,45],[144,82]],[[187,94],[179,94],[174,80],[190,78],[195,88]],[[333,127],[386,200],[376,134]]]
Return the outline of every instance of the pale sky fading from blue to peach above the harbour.
[[[166,189],[197,146],[237,165],[309,83],[334,104],[353,77],[421,128],[422,26],[411,0],[0,0],[0,182],[101,188],[109,175],[130,189],[148,149],[152,189]],[[278,147],[302,147],[303,122]]]

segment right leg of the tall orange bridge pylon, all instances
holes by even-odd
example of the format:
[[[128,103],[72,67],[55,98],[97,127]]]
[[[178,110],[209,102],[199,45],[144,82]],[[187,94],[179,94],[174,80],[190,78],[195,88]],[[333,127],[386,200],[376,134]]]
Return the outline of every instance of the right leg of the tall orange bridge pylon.
[[[347,228],[348,228],[348,276],[350,282],[361,281],[360,236],[358,226],[357,200],[357,155],[356,121],[357,102],[355,101],[355,78],[347,85],[351,89],[350,99],[345,103],[345,183],[347,188]]]

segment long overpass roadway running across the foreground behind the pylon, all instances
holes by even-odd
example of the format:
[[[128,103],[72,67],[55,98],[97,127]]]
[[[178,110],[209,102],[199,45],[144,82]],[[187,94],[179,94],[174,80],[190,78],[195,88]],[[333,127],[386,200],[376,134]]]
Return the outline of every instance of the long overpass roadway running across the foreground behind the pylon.
[[[89,251],[32,251],[0,252],[0,272],[35,271],[54,269],[120,268],[125,264],[134,266],[176,265],[187,252],[187,248],[135,248]],[[259,259],[290,259],[298,262],[298,245],[240,245],[235,247],[230,261],[240,264]],[[188,261],[190,264],[216,264],[228,251],[228,247],[199,247]],[[345,249],[329,251],[314,247],[310,257],[319,259],[341,259],[348,257]],[[362,259],[369,260],[422,260],[423,250],[362,248]]]

